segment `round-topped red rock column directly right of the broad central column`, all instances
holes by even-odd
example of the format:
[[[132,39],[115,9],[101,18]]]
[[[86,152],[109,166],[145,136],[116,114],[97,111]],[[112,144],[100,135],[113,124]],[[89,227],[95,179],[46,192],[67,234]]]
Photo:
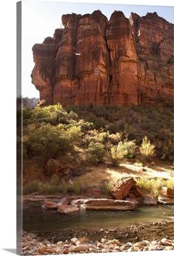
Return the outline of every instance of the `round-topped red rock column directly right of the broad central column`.
[[[138,104],[138,58],[129,19],[122,12],[111,15],[106,40],[111,57],[110,104]]]

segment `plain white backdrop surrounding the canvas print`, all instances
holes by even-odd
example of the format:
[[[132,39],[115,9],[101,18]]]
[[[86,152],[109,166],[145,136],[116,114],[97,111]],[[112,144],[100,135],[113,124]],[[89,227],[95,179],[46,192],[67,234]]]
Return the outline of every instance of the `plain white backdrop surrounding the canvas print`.
[[[173,1],[71,1],[86,3],[146,4],[173,6]],[[16,248],[16,3],[1,1],[1,232],[0,255],[14,255]],[[13,251],[13,252],[12,252]],[[170,252],[131,253],[139,255],[171,255]],[[107,253],[102,253],[107,255]],[[111,255],[111,254],[109,254]],[[121,253],[121,256],[127,253]]]

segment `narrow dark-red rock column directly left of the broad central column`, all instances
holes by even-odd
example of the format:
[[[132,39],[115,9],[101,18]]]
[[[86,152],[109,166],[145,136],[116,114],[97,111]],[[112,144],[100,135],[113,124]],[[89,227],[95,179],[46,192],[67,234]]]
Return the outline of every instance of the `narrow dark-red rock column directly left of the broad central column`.
[[[77,26],[81,15],[75,13],[62,16],[65,26],[63,35],[56,47],[53,69],[53,104],[63,106],[74,104],[77,100],[78,79],[75,79],[75,45]]]

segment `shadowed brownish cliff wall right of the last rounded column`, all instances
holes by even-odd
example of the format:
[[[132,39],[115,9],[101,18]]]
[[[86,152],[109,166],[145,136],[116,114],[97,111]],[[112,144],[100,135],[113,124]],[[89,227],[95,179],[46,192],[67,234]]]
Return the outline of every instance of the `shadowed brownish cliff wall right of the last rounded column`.
[[[129,17],[139,59],[141,103],[173,95],[173,24],[154,13]]]

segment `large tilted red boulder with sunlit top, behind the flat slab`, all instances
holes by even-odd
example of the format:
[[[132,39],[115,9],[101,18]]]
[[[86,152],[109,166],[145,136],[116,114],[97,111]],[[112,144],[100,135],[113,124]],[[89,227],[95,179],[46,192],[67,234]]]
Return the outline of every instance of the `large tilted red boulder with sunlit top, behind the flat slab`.
[[[117,200],[123,200],[135,184],[136,181],[132,177],[122,177],[115,182],[111,195]]]

